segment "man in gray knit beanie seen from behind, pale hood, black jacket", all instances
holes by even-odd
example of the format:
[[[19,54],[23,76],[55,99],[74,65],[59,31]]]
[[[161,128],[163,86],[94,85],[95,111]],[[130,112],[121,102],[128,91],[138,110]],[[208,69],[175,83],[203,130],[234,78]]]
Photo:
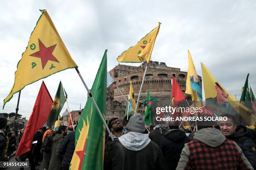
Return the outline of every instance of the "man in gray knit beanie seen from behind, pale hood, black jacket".
[[[133,115],[127,133],[110,144],[112,170],[166,170],[159,146],[143,134],[145,121],[140,113]]]

